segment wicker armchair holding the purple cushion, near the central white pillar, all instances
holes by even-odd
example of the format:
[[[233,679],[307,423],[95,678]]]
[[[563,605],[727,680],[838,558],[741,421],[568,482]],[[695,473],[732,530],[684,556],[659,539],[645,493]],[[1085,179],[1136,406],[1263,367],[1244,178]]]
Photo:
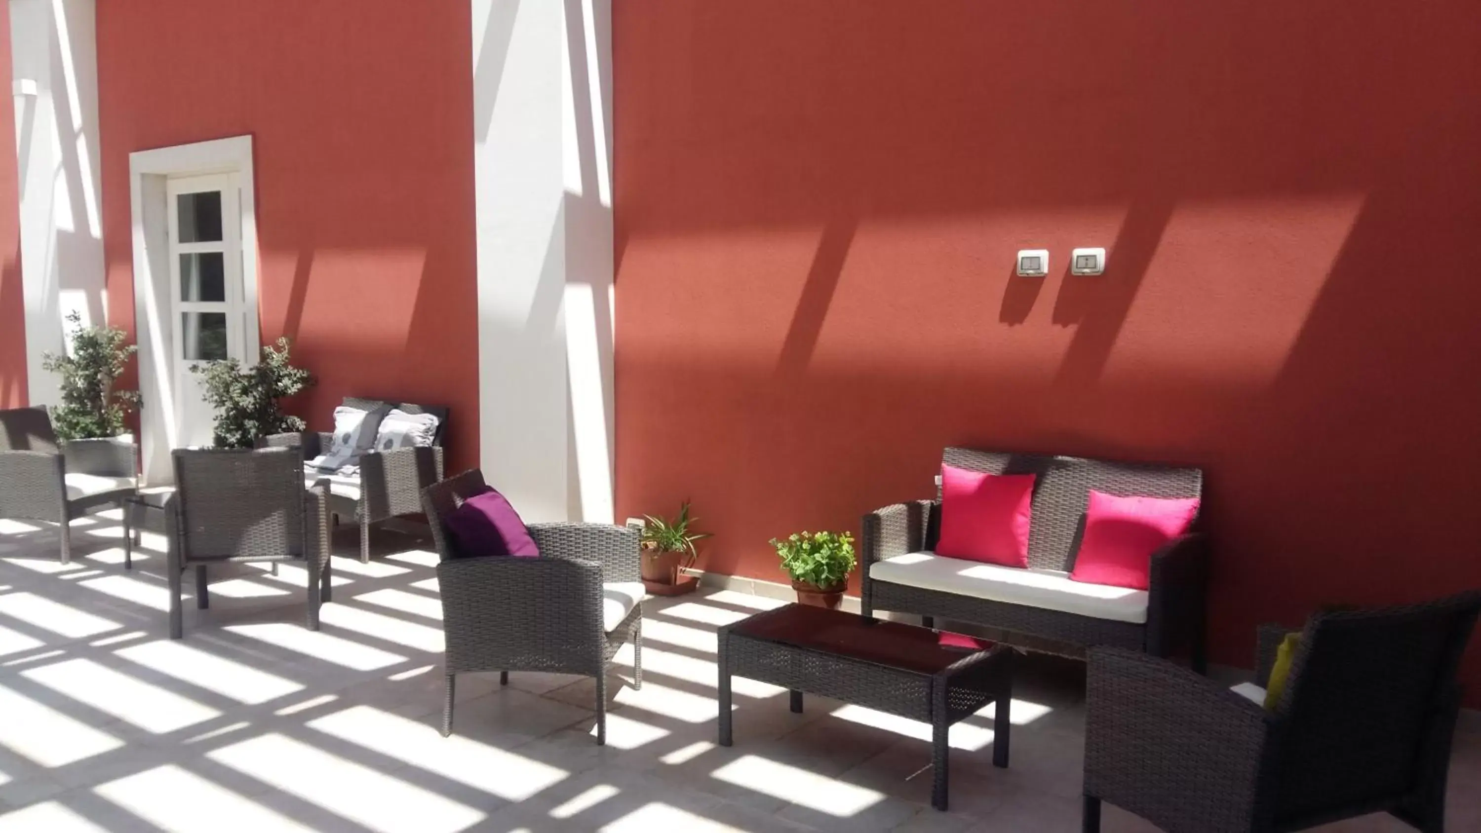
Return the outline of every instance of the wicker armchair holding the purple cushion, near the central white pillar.
[[[446,695],[443,735],[453,725],[459,673],[575,673],[597,681],[597,743],[607,743],[607,663],[632,642],[632,688],[643,687],[643,583],[638,531],[607,524],[530,524],[539,558],[461,558],[443,518],[484,491],[478,471],[422,491],[441,562]],[[635,593],[635,595],[634,595]],[[629,607],[631,605],[631,607]]]

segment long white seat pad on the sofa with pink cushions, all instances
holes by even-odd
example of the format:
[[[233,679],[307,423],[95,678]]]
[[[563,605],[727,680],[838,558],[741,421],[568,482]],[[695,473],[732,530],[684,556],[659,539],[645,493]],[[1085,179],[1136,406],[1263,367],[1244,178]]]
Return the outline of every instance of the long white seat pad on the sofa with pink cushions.
[[[992,602],[1146,623],[1146,590],[1071,581],[1068,573],[982,564],[933,552],[896,555],[869,565],[869,577],[923,590],[939,590]]]

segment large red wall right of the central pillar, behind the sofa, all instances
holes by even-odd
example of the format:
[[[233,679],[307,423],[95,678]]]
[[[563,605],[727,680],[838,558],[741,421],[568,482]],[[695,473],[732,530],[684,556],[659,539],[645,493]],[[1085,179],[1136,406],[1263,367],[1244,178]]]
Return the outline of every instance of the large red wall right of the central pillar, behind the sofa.
[[[1481,586],[1474,22],[619,3],[618,515],[692,497],[709,568],[779,580],[767,539],[948,444],[1201,465],[1246,667],[1256,623]]]

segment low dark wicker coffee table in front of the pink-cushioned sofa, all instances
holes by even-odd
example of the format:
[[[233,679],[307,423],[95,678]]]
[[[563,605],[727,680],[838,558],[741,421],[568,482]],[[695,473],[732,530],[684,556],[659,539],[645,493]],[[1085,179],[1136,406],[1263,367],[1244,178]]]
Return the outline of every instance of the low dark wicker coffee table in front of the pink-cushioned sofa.
[[[966,641],[966,638],[957,638]],[[932,806],[946,809],[946,732],[997,701],[992,763],[1009,765],[1013,650],[966,641],[900,621],[786,605],[720,629],[720,746],[730,746],[730,678],[739,675],[932,725]]]

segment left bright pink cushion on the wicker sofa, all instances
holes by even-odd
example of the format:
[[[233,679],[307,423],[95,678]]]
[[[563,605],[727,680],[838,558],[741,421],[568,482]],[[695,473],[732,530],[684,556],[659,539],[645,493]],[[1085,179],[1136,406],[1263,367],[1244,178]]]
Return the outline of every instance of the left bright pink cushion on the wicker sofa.
[[[940,468],[936,555],[1028,567],[1034,475],[989,475]]]

